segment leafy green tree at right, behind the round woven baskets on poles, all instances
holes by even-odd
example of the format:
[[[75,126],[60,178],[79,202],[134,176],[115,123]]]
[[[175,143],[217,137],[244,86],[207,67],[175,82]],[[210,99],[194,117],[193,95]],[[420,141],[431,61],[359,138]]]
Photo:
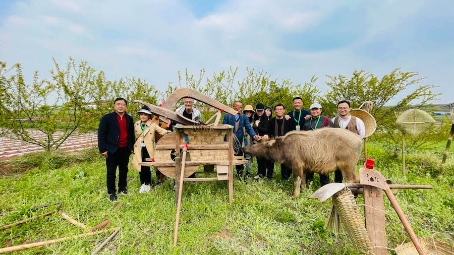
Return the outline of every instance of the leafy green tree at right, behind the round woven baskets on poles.
[[[323,110],[325,115],[334,116],[337,114],[336,103],[338,101],[348,100],[352,108],[360,107],[361,102],[372,101],[374,105],[371,114],[377,121],[376,134],[384,136],[385,141],[397,143],[400,141],[400,133],[396,132],[394,112],[406,110],[415,101],[419,101],[416,108],[429,107],[428,110],[430,110],[428,102],[438,99],[437,97],[440,95],[432,92],[436,86],[419,85],[395,105],[385,106],[399,93],[405,93],[425,79],[418,78],[418,75],[418,72],[403,72],[401,69],[395,69],[381,79],[364,70],[354,71],[351,78],[342,75],[327,76],[330,79],[326,82],[329,89],[321,99]],[[410,138],[409,148],[429,145],[424,141],[435,141],[439,132],[444,132],[444,124],[441,129],[432,129],[418,138]]]

